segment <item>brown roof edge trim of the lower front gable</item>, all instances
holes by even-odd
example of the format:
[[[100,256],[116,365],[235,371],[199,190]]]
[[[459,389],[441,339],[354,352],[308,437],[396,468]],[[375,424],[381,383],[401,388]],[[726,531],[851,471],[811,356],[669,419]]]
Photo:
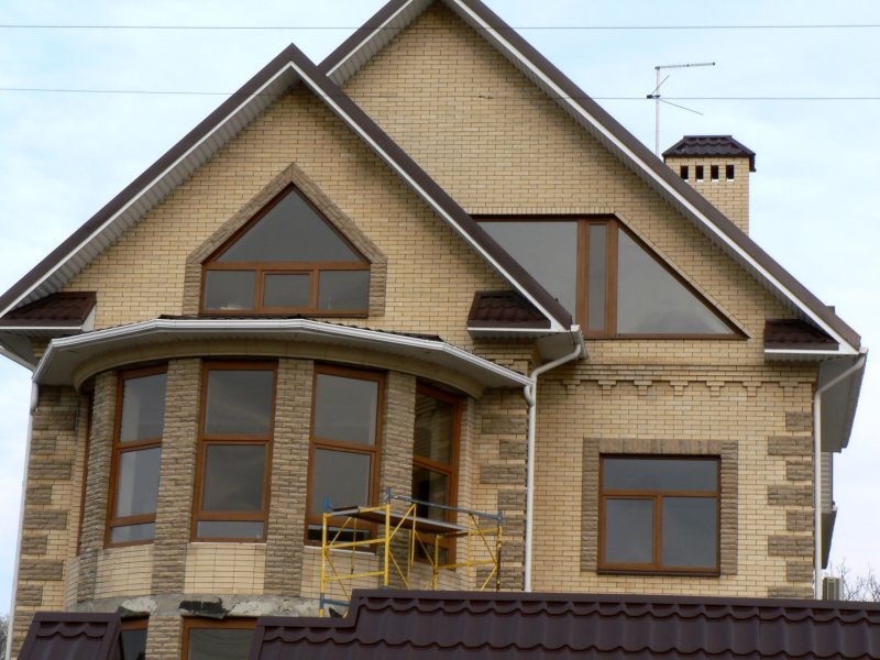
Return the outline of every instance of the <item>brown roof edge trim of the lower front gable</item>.
[[[95,231],[122,209],[133,197],[145,189],[148,184],[161,173],[183,156],[191,146],[211,132],[223,119],[241,105],[242,98],[248,98],[263,87],[288,63],[301,70],[308,78],[309,87],[316,88],[322,100],[343,112],[352,123],[363,131],[393,162],[399,167],[416,186],[421,188],[452,221],[466,234],[485,254],[490,255],[512,278],[517,287],[531,296],[553,317],[560,326],[569,329],[572,323],[571,315],[553,298],[538,282],[526,272],[505,250],[501,248],[464,209],[462,209],[416,162],[410,158],[380,127],[361,110],[354,101],[327,78],[306,55],[295,45],[290,44],[270,64],[263,67],[253,78],[245,82],[237,92],[227,99],[220,107],[209,114],[201,123],[158,161],[151,165],[141,176],[132,182],[125,189],[117,195],[100,211],[92,216],[82,227],[76,230],[67,240],[56,248],[48,256],[40,262],[30,273],[22,277],[6,294],[0,296],[0,309],[12,305],[30,287],[36,284],[55,265],[77,246],[86,241]]]

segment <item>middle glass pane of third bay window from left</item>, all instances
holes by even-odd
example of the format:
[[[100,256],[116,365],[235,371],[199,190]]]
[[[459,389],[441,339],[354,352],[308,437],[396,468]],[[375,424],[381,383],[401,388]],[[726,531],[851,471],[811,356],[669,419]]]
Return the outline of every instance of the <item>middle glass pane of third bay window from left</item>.
[[[316,449],[314,461],[312,515],[323,514],[324,498],[337,508],[371,504],[369,454]]]

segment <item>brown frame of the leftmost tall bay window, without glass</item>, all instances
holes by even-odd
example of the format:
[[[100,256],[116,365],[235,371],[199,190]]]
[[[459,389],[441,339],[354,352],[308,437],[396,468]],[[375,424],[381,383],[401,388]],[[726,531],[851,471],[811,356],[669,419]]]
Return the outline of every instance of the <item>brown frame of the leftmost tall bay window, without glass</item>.
[[[107,548],[120,548],[124,546],[144,546],[147,543],[152,543],[155,541],[155,536],[152,539],[143,539],[140,541],[111,541],[110,534],[112,532],[114,527],[127,527],[129,525],[145,525],[148,522],[156,522],[156,512],[152,514],[139,514],[136,516],[116,516],[116,506],[117,506],[117,498],[119,494],[117,493],[117,487],[119,485],[119,462],[120,457],[123,453],[128,453],[130,451],[143,451],[146,449],[158,449],[162,450],[162,439],[163,436],[158,436],[157,438],[147,438],[145,440],[135,440],[133,442],[120,442],[119,437],[122,431],[122,399],[125,393],[125,381],[133,380],[133,378],[142,378],[144,376],[155,376],[158,374],[167,374],[168,373],[168,365],[163,364],[158,366],[147,366],[141,369],[133,369],[128,370],[124,372],[120,372],[117,377],[117,400],[116,400],[116,417],[113,419],[113,447],[112,447],[112,457],[110,459],[110,493],[107,498],[107,524],[105,525],[105,547]],[[167,381],[166,381],[167,387]],[[167,388],[165,392],[165,396],[167,399]],[[89,415],[89,427],[91,427],[91,416]],[[163,420],[163,431],[164,431],[164,420]],[[161,465],[162,460],[160,459],[160,477],[161,477]],[[88,470],[88,462],[86,464],[86,470]],[[85,483],[85,482],[84,482]],[[85,507],[85,494],[82,506]],[[156,507],[158,508],[158,507]],[[81,520],[81,517],[80,517]]]

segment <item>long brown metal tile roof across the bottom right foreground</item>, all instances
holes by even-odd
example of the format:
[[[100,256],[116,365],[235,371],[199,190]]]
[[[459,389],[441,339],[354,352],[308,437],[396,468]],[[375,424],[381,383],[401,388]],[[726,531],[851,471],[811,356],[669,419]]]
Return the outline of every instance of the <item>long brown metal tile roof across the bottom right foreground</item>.
[[[355,592],[344,618],[257,619],[250,660],[880,658],[880,605]]]

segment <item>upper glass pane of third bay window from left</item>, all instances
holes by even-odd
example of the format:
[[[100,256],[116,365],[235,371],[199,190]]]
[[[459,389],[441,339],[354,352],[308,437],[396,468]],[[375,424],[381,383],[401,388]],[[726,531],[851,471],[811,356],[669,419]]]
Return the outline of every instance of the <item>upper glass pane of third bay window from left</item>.
[[[356,444],[375,444],[378,383],[318,374],[315,392],[315,437]]]

